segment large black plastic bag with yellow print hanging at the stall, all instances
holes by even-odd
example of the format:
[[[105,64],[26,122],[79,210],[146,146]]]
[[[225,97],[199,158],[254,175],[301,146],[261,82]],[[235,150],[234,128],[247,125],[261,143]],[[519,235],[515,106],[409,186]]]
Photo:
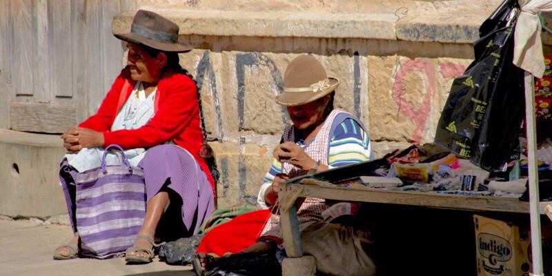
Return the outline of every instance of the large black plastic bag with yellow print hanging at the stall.
[[[435,133],[435,144],[489,171],[509,160],[525,116],[524,71],[512,63],[518,14],[508,0],[482,25],[475,61],[454,80]]]

